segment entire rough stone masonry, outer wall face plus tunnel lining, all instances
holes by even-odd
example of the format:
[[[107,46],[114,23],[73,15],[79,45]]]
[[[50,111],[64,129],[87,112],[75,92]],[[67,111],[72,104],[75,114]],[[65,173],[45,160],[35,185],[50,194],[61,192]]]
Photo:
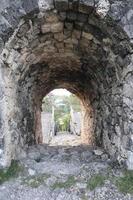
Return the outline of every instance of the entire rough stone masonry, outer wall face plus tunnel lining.
[[[132,39],[132,0],[1,0],[3,165],[40,142],[42,99],[66,88],[82,101],[85,141],[133,169]]]

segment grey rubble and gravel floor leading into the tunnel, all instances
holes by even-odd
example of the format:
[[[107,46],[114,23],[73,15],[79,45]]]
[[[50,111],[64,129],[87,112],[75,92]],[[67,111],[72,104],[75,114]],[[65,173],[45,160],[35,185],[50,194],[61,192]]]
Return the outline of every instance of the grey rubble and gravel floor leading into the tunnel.
[[[57,137],[60,141],[62,136]],[[32,146],[21,160],[19,177],[0,185],[0,200],[133,200],[119,192],[111,178],[92,191],[87,187],[95,174],[122,175],[106,153],[95,150],[87,145]]]

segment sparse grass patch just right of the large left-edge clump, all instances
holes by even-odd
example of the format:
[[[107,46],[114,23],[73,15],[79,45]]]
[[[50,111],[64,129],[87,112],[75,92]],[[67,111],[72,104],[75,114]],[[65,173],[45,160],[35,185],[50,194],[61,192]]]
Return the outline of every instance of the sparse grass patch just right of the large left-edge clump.
[[[24,179],[23,184],[32,188],[37,188],[42,184],[45,184],[45,181],[50,177],[49,174],[41,174],[38,176],[29,176]]]

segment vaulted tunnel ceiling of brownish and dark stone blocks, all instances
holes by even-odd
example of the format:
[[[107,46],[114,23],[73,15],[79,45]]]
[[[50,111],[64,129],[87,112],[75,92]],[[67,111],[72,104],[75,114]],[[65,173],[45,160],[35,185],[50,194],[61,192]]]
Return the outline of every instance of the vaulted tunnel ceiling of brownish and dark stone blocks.
[[[121,78],[123,59],[132,51],[127,35],[93,7],[81,4],[67,9],[65,5],[57,1],[58,11],[21,20],[2,60],[16,82],[21,86],[28,82],[27,87],[33,90],[34,86],[42,96],[65,83],[71,90],[74,84],[84,90],[84,82],[90,88],[112,87]]]

